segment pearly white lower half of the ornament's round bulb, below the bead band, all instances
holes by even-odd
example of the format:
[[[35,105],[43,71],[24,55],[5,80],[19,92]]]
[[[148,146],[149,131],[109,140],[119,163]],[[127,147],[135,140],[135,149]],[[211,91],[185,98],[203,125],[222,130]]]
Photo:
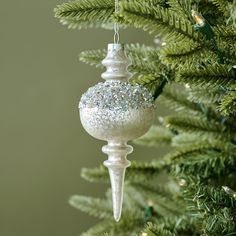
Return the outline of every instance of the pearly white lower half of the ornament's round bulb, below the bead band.
[[[94,138],[110,142],[127,142],[148,131],[153,122],[153,108],[109,110],[83,108],[80,119],[84,129]]]

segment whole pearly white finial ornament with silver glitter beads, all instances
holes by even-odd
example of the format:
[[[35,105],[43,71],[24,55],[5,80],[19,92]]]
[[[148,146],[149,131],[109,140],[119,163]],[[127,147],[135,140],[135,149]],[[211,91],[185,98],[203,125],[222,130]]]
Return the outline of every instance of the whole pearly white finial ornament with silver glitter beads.
[[[99,83],[83,94],[79,103],[80,119],[85,130],[93,137],[108,142],[102,151],[108,155],[104,165],[109,170],[112,186],[113,214],[120,219],[123,202],[126,159],[133,148],[127,141],[148,131],[155,116],[155,105],[149,91],[128,82],[129,61],[121,44],[109,44],[107,67]]]

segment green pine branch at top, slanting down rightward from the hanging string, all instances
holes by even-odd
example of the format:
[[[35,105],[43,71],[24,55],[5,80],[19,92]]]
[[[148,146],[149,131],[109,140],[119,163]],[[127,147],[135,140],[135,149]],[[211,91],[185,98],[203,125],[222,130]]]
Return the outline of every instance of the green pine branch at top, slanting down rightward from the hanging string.
[[[155,0],[123,1],[121,15],[125,24],[143,28],[154,35],[162,32],[172,35],[173,38],[182,35],[186,40],[199,39],[188,20],[158,6]]]

